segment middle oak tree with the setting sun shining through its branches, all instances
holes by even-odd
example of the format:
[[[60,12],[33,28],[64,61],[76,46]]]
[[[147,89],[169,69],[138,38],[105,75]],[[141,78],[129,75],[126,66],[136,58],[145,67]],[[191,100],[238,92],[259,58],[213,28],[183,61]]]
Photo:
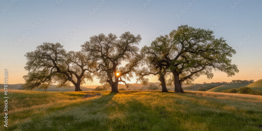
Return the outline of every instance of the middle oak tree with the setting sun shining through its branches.
[[[119,39],[112,33],[105,36],[90,37],[82,46],[82,51],[96,58],[98,66],[96,75],[101,84],[108,83],[112,92],[118,92],[118,83],[123,82],[126,87],[133,78],[133,72],[142,59],[139,54],[141,36],[134,36],[130,32],[123,33]]]

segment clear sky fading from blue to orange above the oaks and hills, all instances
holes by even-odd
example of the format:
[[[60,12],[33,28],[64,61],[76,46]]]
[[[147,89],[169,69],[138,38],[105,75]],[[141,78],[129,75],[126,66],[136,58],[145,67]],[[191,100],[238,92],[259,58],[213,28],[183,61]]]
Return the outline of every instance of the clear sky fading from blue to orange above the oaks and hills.
[[[201,76],[195,83],[256,81],[262,79],[261,4],[261,0],[1,0],[0,69],[9,70],[9,84],[24,83],[24,54],[43,42],[62,42],[67,51],[79,51],[93,35],[120,36],[130,31],[141,35],[141,48],[187,24],[212,29],[216,38],[224,37],[237,50],[232,63],[238,65],[238,74],[228,78],[215,72],[213,79]],[[156,80],[150,78],[150,82]],[[99,81],[86,85],[99,85]]]

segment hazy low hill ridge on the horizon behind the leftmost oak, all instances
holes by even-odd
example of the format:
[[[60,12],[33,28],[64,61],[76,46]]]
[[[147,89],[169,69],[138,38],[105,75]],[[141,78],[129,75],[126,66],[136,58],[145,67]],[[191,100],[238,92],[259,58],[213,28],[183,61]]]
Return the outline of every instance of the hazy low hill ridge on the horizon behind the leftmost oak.
[[[23,90],[23,84],[8,84],[8,89],[11,90]],[[0,89],[4,89],[4,84],[0,84]],[[80,86],[80,89],[83,91],[92,91],[89,88]],[[44,91],[43,89],[35,89],[34,91]],[[50,88],[47,88],[48,92],[58,92],[58,91],[75,91],[75,86],[70,86],[69,88],[56,88],[56,85],[50,85]]]

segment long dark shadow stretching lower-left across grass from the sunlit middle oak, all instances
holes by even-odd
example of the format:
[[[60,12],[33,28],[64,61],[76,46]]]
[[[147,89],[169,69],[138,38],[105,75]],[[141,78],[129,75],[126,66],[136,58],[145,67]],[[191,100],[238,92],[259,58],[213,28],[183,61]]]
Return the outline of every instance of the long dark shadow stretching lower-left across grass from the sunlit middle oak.
[[[79,123],[81,117],[91,114],[97,114],[99,108],[105,106],[112,100],[115,93],[101,95],[86,100],[72,103],[69,105],[57,105],[56,107],[47,107],[41,114],[32,114],[31,118],[19,124],[13,124],[7,130],[79,130],[85,125],[96,125],[96,123]],[[90,111],[91,110],[91,111]],[[81,117],[80,117],[81,116]],[[79,127],[79,128],[78,128]]]

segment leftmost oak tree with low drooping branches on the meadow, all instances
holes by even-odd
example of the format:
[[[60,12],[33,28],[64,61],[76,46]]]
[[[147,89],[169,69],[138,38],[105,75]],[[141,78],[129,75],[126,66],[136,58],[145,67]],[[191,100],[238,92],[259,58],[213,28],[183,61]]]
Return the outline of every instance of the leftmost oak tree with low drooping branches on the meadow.
[[[26,89],[46,90],[50,84],[68,87],[72,83],[75,91],[82,91],[80,85],[93,79],[94,59],[82,52],[67,52],[60,43],[43,43],[25,57],[28,60],[25,70],[29,71],[23,77]]]

